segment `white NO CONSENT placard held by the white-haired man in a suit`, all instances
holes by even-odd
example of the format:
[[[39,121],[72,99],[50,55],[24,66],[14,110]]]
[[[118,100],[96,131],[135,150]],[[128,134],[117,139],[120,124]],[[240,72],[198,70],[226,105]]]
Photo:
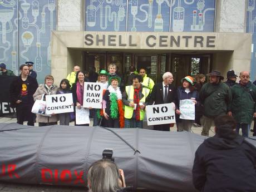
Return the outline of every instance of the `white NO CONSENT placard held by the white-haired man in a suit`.
[[[147,125],[175,123],[175,111],[172,104],[147,105]]]

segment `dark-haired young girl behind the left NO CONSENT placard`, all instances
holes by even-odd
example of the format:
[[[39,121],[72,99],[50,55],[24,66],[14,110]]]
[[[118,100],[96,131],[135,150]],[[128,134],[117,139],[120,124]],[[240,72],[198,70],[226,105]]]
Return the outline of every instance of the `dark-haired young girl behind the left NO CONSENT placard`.
[[[66,78],[61,80],[60,88],[58,88],[57,94],[71,93],[70,83]],[[58,119],[60,120],[60,125],[70,125],[70,113],[65,112],[63,114],[58,114]]]

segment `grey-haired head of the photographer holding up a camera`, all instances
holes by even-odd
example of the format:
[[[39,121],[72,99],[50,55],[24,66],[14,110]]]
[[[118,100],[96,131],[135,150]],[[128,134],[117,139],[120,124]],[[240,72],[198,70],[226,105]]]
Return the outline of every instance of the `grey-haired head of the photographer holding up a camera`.
[[[108,159],[93,163],[88,169],[88,188],[92,192],[116,192],[121,189],[117,165]]]

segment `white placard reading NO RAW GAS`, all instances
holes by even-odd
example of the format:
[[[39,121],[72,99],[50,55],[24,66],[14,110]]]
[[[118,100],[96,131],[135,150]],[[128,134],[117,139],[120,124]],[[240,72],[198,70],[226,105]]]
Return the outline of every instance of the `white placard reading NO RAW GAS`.
[[[85,82],[83,90],[83,107],[102,109],[103,83]]]

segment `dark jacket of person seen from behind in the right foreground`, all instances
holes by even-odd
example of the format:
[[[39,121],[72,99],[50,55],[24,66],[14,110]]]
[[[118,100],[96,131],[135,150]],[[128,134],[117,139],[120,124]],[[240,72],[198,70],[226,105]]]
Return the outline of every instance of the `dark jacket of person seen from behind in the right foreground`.
[[[199,191],[255,192],[255,181],[256,148],[232,129],[216,132],[196,150],[193,184]]]

